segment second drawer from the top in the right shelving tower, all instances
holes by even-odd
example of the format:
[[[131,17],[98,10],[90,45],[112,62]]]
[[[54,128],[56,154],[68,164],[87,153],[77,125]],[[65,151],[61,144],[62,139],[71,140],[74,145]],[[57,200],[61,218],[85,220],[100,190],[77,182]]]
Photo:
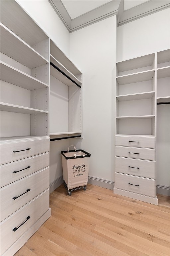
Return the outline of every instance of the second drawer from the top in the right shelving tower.
[[[116,146],[116,156],[155,161],[155,149]]]

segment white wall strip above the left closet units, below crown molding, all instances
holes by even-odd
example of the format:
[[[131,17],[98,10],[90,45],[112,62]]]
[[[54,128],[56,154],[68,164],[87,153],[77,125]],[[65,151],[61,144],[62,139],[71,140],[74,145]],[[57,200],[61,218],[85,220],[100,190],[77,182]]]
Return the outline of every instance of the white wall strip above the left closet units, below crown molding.
[[[69,56],[70,33],[47,0],[18,0],[56,45]]]

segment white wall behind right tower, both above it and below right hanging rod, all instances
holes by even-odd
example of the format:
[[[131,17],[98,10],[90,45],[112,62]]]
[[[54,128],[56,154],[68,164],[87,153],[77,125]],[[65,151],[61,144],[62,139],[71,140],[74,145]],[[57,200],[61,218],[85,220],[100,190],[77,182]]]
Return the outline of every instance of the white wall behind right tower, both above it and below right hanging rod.
[[[118,27],[117,61],[170,48],[170,9]],[[157,184],[170,186],[170,110],[157,106]]]

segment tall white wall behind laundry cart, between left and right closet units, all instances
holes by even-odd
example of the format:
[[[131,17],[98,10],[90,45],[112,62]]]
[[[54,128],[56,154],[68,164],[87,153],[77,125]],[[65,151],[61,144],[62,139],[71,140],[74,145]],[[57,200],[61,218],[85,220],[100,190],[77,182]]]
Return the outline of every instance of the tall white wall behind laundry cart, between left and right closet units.
[[[70,34],[70,59],[83,72],[83,139],[91,153],[89,175],[114,178],[116,16]]]

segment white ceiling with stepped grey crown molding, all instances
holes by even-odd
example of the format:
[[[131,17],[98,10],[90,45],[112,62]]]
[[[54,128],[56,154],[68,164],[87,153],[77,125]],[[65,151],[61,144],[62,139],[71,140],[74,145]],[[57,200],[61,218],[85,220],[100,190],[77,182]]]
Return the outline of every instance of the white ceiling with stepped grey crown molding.
[[[170,7],[170,0],[48,0],[71,33],[116,15],[121,26]]]

